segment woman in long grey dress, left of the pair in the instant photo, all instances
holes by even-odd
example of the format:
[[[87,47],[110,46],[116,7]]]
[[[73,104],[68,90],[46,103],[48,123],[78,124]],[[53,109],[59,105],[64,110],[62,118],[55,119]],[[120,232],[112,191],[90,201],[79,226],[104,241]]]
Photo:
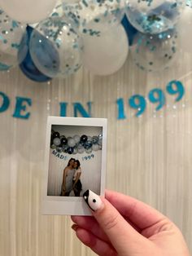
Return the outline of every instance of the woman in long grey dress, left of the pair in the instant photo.
[[[61,194],[60,196],[69,196],[70,192],[72,191],[73,188],[73,177],[74,177],[74,163],[75,159],[71,158],[68,161],[68,166],[65,167],[63,170],[63,183],[61,187]]]

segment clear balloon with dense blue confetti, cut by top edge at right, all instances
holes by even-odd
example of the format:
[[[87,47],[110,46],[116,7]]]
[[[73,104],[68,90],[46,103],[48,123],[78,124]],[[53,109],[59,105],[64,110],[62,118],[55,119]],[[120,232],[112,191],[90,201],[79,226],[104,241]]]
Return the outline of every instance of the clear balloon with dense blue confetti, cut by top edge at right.
[[[142,33],[162,33],[172,29],[181,16],[181,0],[129,0],[126,8],[128,19]]]

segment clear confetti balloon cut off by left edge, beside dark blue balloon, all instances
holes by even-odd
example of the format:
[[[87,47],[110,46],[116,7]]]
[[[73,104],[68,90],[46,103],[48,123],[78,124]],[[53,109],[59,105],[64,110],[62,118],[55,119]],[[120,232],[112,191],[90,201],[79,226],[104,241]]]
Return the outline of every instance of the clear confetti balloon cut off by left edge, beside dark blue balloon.
[[[17,55],[24,35],[25,25],[21,25],[0,10],[0,70],[7,70],[24,60]],[[26,55],[26,52],[25,52]]]

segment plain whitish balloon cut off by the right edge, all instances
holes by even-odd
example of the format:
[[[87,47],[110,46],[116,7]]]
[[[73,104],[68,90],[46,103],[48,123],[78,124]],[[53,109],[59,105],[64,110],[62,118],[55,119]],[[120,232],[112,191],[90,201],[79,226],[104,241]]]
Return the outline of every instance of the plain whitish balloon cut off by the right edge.
[[[192,53],[191,41],[189,35],[191,35],[192,27],[192,8],[185,7],[181,20],[177,24],[178,38],[181,42],[181,49],[185,52]]]

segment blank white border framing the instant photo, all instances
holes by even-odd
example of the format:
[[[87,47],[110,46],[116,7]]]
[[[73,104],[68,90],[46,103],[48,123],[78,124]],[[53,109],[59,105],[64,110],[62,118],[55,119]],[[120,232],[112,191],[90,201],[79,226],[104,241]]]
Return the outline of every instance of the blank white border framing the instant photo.
[[[45,171],[43,173],[42,186],[42,214],[53,215],[91,215],[89,206],[83,197],[76,196],[47,196],[47,184],[50,162],[50,134],[52,125],[61,126],[99,126],[103,128],[103,148],[102,148],[102,170],[100,196],[105,192],[105,175],[107,165],[107,119],[105,118],[85,118],[85,117],[48,117],[46,126],[46,154]]]

